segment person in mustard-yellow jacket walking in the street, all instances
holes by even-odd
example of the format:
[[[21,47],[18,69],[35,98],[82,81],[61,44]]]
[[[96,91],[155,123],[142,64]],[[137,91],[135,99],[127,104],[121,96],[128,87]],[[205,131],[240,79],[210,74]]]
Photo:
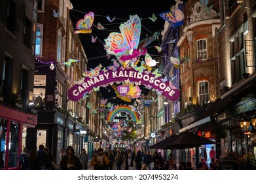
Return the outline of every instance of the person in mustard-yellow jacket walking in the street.
[[[95,149],[96,150],[96,149]],[[107,170],[109,165],[109,158],[105,154],[103,154],[103,148],[98,149],[98,154],[92,158],[90,162],[92,166],[94,166],[94,170]]]

